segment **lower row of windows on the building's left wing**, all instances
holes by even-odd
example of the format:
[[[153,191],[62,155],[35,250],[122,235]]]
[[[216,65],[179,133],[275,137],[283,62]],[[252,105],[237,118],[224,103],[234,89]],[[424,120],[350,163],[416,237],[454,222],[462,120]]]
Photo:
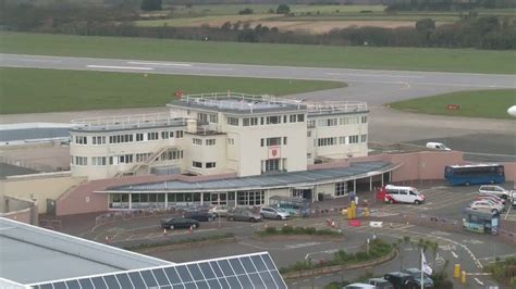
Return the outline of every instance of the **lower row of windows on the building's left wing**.
[[[89,156],[89,158],[72,155],[70,158],[70,163],[73,165],[81,165],[81,166],[86,166],[88,165],[88,163],[96,166],[145,163],[149,161],[151,155],[152,153],[150,152],[135,153],[135,154],[128,153],[128,154],[119,154],[119,155],[110,155],[110,156]],[[183,159],[183,151],[169,150],[158,155],[156,161],[158,160],[172,161],[172,160],[180,160],[180,159]]]

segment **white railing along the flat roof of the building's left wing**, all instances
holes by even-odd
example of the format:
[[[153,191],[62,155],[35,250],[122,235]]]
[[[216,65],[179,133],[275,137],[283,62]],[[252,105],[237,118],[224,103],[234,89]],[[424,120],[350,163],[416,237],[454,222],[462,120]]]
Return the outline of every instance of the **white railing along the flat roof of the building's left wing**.
[[[81,118],[71,122],[74,130],[110,130],[156,126],[185,126],[186,118],[172,117],[168,113],[135,114],[111,117]]]

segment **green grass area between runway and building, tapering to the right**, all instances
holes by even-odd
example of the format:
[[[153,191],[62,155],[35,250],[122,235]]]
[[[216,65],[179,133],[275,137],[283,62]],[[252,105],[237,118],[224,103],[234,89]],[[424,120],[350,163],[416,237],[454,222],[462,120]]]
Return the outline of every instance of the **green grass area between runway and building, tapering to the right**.
[[[291,95],[336,81],[0,68],[0,114],[162,106],[175,90]]]

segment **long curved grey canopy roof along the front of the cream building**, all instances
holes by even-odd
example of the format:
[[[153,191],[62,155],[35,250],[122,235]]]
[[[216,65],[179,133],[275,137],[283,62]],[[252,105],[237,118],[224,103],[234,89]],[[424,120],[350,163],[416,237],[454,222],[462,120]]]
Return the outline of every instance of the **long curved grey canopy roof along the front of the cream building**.
[[[397,167],[388,162],[361,162],[352,163],[348,167],[335,167],[324,169],[312,169],[304,172],[281,173],[273,175],[260,175],[251,177],[226,178],[217,180],[205,180],[187,183],[181,180],[169,180],[131,186],[111,187],[105,192],[185,192],[185,191],[228,191],[228,190],[253,190],[274,189],[284,187],[305,187],[333,181],[374,176]]]

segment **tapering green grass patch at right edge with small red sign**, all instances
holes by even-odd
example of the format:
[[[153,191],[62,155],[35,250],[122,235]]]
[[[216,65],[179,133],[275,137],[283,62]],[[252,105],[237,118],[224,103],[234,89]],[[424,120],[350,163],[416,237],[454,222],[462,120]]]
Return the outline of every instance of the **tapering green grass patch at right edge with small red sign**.
[[[447,110],[449,104],[459,105],[459,110]],[[397,110],[426,114],[511,118],[507,114],[507,109],[512,105],[516,105],[516,90],[460,91],[400,101],[391,103],[390,105]]]

